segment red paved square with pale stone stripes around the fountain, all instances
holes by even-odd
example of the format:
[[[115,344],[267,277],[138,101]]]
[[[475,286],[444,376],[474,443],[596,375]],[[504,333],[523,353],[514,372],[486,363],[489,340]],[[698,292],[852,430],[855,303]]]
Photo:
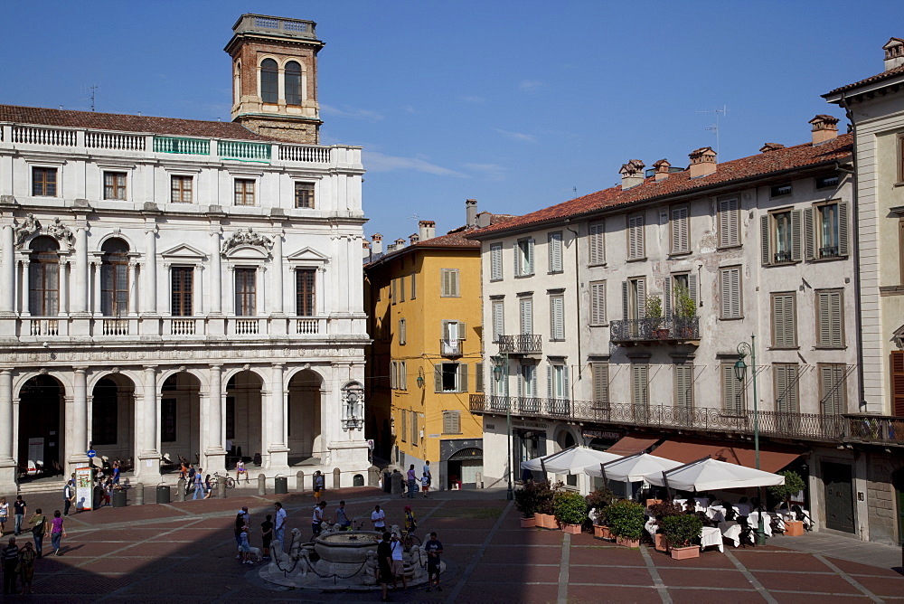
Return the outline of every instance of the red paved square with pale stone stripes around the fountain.
[[[248,505],[257,527],[264,514],[272,512],[272,502],[279,500],[287,508],[289,527],[297,526],[307,535],[314,498],[258,496],[247,489],[229,495],[226,500],[108,507],[71,516],[63,555],[38,561],[35,595],[29,598],[167,603],[174,598],[380,600],[379,592],[268,589],[257,579],[256,569],[235,560],[231,531],[235,513]],[[374,488],[348,488],[325,494],[327,514],[340,498],[353,515],[367,518],[373,505],[380,504],[390,524],[401,524],[402,507],[410,504],[419,518],[418,533],[439,533],[447,562],[444,590],[395,591],[391,599],[398,602],[904,600],[904,577],[891,568],[833,558],[831,549],[800,552],[781,547],[810,535],[777,537],[758,548],[727,546],[725,553],[706,551],[700,558],[676,562],[652,548],[630,550],[588,533],[522,529],[501,491],[453,491],[410,500]],[[30,512],[42,506],[52,514],[58,499],[55,494],[29,495],[26,501]],[[29,532],[20,540],[30,538]],[[251,541],[259,545],[259,532],[252,533]]]

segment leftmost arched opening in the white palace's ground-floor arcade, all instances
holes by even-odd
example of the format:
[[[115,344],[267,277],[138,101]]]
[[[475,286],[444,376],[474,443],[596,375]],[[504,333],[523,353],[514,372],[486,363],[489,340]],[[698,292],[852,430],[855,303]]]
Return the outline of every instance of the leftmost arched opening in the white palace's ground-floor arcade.
[[[50,375],[36,375],[19,391],[18,464],[28,476],[63,473],[64,395]]]

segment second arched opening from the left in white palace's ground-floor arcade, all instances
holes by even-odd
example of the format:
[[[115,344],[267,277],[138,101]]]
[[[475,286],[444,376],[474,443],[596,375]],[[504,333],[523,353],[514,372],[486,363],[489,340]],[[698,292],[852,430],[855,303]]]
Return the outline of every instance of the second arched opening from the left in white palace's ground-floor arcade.
[[[134,466],[135,384],[119,373],[111,373],[94,384],[91,395],[91,446],[99,456]]]

